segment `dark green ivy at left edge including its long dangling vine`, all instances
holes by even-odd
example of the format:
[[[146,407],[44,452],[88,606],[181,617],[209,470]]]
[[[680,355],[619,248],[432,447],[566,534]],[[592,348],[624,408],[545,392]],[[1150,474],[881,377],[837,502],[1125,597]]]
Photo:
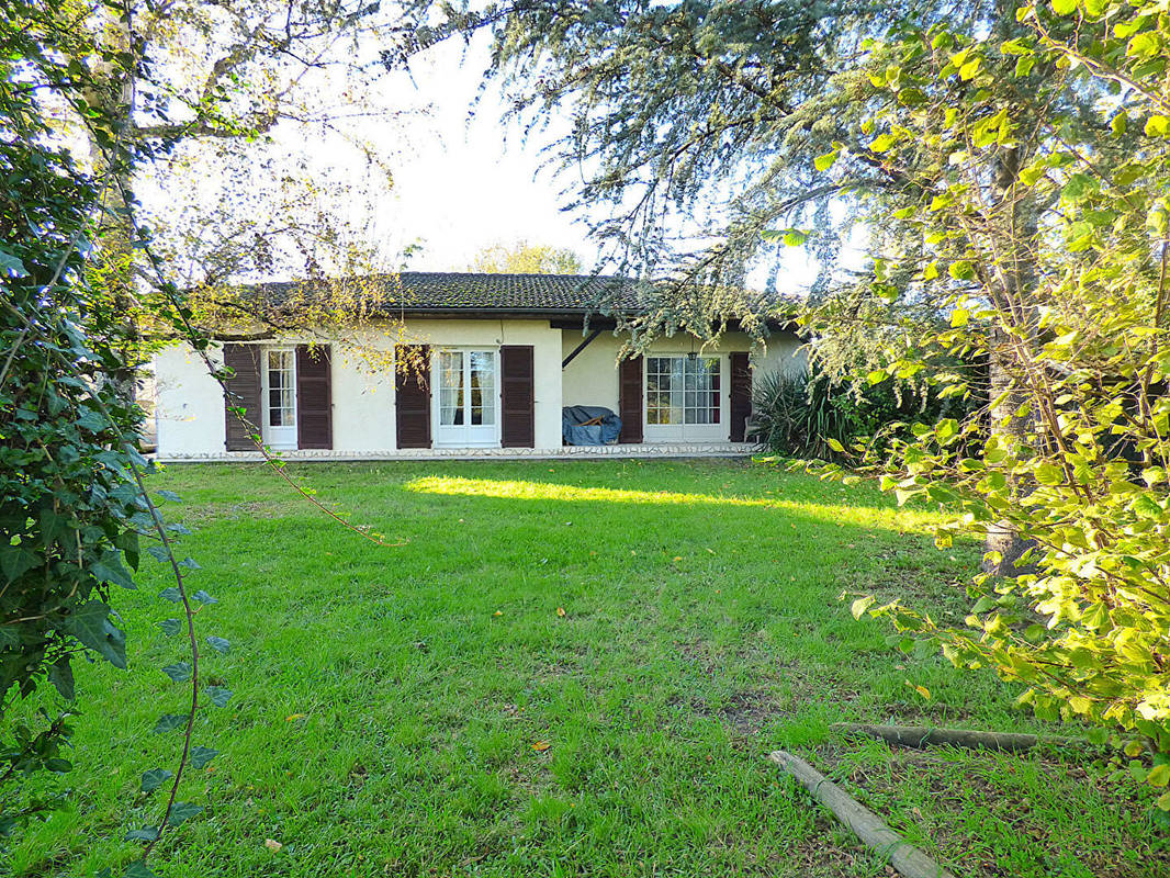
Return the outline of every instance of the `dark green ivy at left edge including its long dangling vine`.
[[[138,155],[122,142],[117,117],[88,101],[91,70],[116,76],[111,71],[123,68],[126,55],[117,41],[112,47],[84,42],[68,26],[68,6],[20,4],[0,27],[0,831],[50,804],[22,795],[29,775],[73,767],[58,755],[73,711],[58,707],[54,718],[54,699],[37,691],[48,682],[73,701],[71,661],[78,654],[126,667],[111,591],[135,588],[139,543],[149,539],[157,542],[147,553],[170,565],[187,616],[190,663],[163,670],[177,682],[190,680],[192,693],[186,713],[166,715],[186,727],[177,770],[152,769],[143,777],[144,793],[173,778],[158,825],[131,834],[147,842],[149,852],[168,823],[197,812],[176,803],[176,794],[199,695],[199,656],[183,577],[198,564],[177,561],[173,543],[183,529],[165,526],[145,489],[151,466],[137,451],[142,412],[125,392],[137,328],[128,309],[109,296],[110,262],[99,258],[111,228],[142,236],[132,221],[110,221],[115,214],[129,217],[117,180]],[[76,63],[58,50],[61,44],[88,53],[91,63]],[[85,119],[99,149],[97,178],[56,145],[44,100],[66,102]],[[115,248],[123,243],[115,234]],[[187,327],[181,309],[174,317],[177,329]],[[174,631],[180,627],[177,623]],[[9,722],[14,704],[34,693],[42,728],[29,727],[28,712]],[[149,874],[145,859],[131,871]]]

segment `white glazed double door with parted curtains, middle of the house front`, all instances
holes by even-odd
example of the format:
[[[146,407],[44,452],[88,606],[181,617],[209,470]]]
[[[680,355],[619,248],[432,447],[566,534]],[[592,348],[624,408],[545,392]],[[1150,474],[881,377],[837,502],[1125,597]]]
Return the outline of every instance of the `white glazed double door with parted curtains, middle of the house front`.
[[[494,350],[440,350],[435,445],[500,445],[500,391]]]

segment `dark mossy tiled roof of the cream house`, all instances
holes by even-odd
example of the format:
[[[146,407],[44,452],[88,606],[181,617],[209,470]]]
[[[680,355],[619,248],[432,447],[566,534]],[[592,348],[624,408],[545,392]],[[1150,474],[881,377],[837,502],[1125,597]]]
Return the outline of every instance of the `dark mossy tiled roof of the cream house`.
[[[387,310],[406,311],[548,311],[584,314],[605,304],[610,309],[638,310],[636,281],[614,275],[578,274],[470,274],[459,272],[402,272],[359,279],[384,286]],[[287,300],[300,282],[263,283],[256,289],[273,304]]]

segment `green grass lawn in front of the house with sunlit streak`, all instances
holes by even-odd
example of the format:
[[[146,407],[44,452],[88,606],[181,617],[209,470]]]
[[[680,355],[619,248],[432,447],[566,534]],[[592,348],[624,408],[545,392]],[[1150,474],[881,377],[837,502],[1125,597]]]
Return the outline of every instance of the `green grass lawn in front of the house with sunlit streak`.
[[[256,466],[173,467],[156,488],[183,551],[207,678],[235,692],[195,743],[221,750],[159,845],[160,876],[883,876],[768,763],[784,747],[965,876],[1165,874],[1133,784],[1068,757],[911,753],[840,720],[1034,730],[987,674],[886,645],[851,595],[961,618],[978,553],[940,553],[929,513],[725,461],[295,467],[401,546],[331,523]],[[129,863],[176,761],[151,734],[185,688],[146,557],[116,596],[131,670],[78,672],[71,810],[7,851],[22,876]],[[841,596],[846,596],[841,599]],[[559,615],[558,608],[564,610]],[[930,699],[914,686],[924,686]],[[534,748],[548,742],[546,750]],[[283,849],[274,853],[266,839]]]

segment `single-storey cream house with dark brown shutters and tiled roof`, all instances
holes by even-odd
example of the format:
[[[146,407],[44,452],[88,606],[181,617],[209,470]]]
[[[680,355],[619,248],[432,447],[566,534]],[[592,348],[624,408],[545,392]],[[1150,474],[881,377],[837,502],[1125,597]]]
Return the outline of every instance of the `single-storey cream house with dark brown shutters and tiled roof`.
[[[230,400],[199,355],[172,345],[153,362],[158,458],[255,459],[233,406],[246,407],[289,459],[579,453],[562,440],[570,405],[620,414],[619,444],[593,451],[746,452],[752,373],[805,369],[792,329],[776,324],[766,349],[755,351],[738,330],[707,347],[679,334],[619,362],[626,339],[596,313],[614,284],[629,282],[402,273],[384,320],[357,330],[359,347],[380,351],[380,362],[340,341],[225,341],[212,358],[234,370]],[[278,295],[282,284],[263,289]],[[395,368],[404,361],[412,365]]]

